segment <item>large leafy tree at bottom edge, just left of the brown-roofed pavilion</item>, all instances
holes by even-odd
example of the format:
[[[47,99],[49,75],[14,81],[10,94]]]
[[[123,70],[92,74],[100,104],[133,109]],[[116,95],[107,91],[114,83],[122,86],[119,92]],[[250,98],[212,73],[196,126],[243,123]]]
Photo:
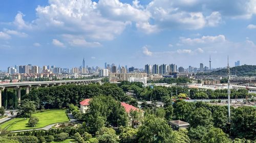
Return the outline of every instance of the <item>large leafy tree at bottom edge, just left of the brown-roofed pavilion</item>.
[[[139,142],[170,142],[172,128],[162,118],[148,115],[138,128]]]

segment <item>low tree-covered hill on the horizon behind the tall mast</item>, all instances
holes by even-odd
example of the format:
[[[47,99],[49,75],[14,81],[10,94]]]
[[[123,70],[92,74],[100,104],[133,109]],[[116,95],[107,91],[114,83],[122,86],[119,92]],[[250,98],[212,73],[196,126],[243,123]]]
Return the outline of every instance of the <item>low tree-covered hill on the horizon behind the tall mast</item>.
[[[238,67],[230,68],[230,73],[232,75],[237,74],[238,76],[256,76],[256,66],[253,65],[243,65]],[[221,69],[218,71],[212,71],[206,73],[206,75],[224,75],[227,74],[227,69]]]

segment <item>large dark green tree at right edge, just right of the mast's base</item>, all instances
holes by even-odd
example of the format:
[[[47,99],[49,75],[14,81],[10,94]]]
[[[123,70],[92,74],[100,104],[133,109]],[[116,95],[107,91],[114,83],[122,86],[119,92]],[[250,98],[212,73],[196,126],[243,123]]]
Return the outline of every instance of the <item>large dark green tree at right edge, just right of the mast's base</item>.
[[[232,113],[231,133],[239,138],[256,139],[256,108],[242,106]]]

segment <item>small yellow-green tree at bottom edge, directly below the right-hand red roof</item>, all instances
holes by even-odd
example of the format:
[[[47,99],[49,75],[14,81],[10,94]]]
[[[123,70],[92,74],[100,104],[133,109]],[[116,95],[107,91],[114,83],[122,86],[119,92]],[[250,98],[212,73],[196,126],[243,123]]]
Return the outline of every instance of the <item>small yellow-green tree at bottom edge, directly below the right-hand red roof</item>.
[[[123,128],[122,132],[119,135],[120,142],[121,143],[138,142],[137,132],[138,132],[138,129],[133,129],[130,127]]]

